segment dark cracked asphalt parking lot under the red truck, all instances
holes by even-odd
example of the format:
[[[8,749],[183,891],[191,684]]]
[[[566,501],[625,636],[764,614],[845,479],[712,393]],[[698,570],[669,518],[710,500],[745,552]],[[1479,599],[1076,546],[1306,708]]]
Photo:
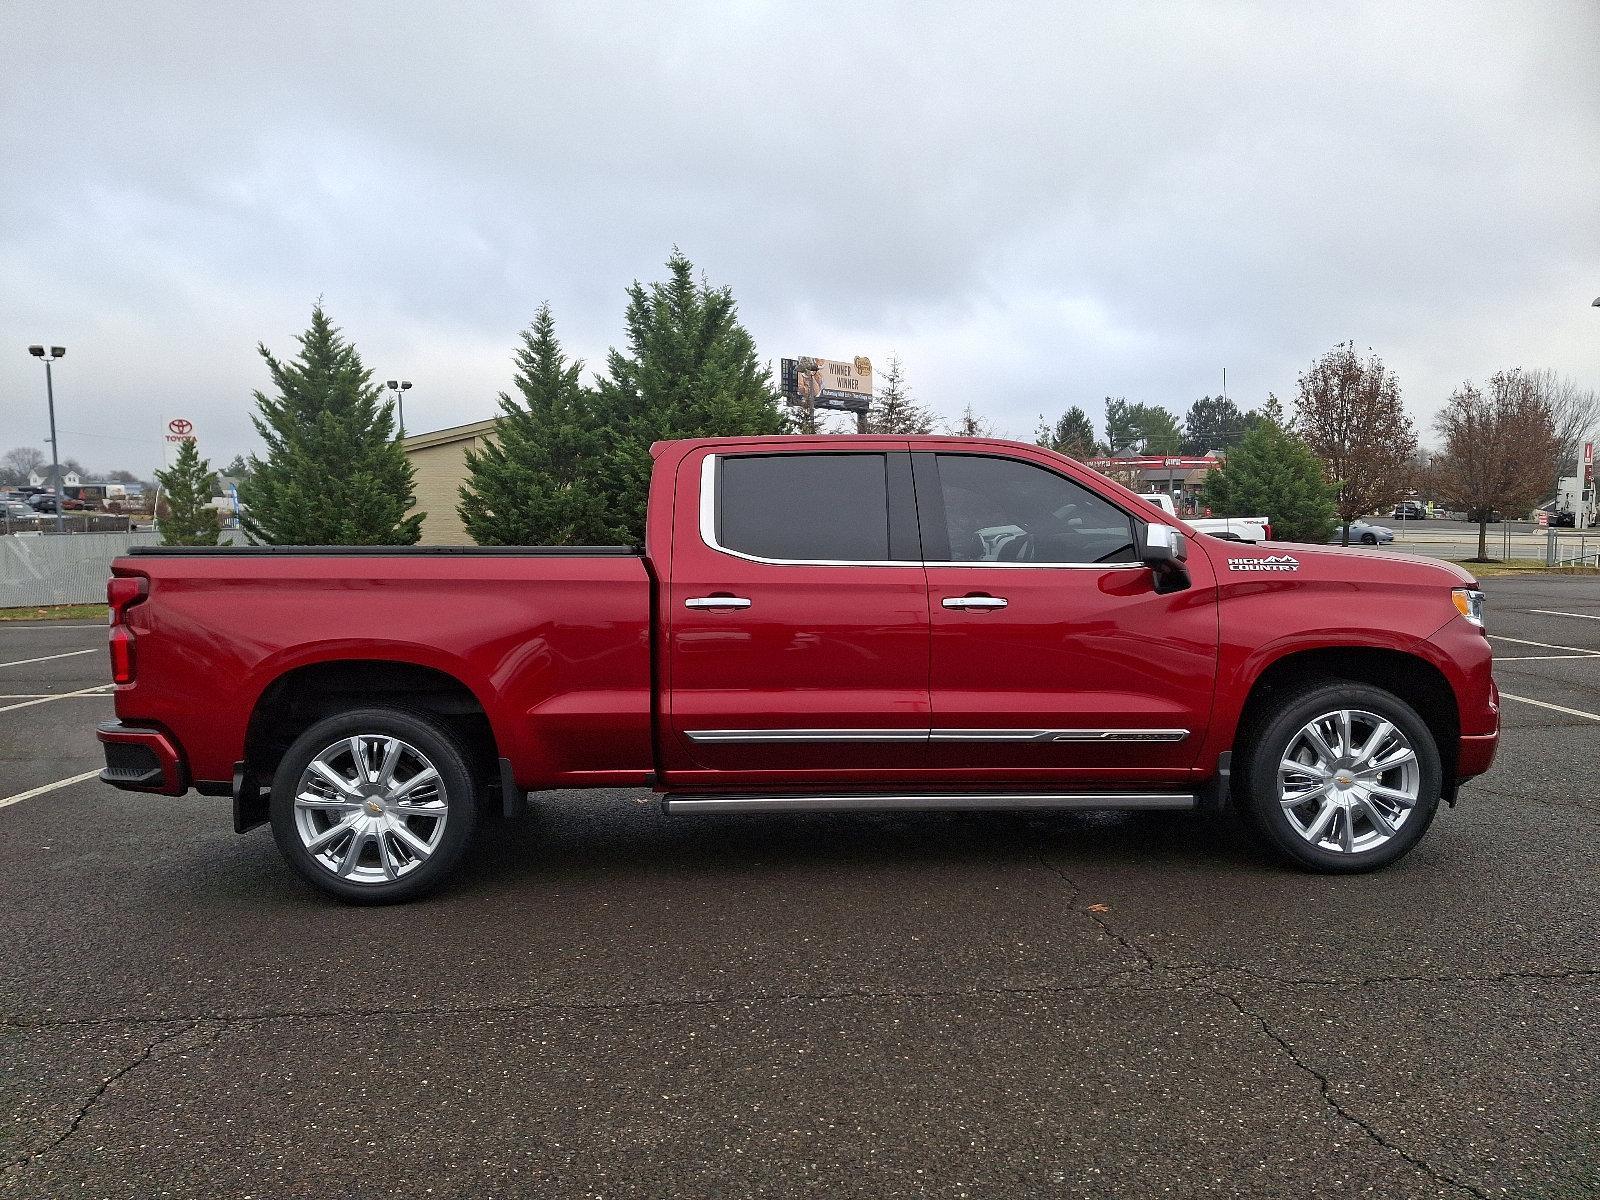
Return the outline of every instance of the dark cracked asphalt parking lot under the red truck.
[[[0,1195],[1600,1192],[1600,579],[1486,590],[1499,760],[1378,875],[584,794],[390,909],[226,800],[29,795],[104,629],[0,624]]]

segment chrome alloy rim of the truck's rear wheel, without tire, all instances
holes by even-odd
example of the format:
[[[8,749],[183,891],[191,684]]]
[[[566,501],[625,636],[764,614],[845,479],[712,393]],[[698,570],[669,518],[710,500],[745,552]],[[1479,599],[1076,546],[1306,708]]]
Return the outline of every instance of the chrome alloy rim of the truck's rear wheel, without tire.
[[[325,870],[352,883],[392,883],[427,862],[450,819],[445,782],[427,755],[386,733],[320,750],[294,789],[294,829]]]

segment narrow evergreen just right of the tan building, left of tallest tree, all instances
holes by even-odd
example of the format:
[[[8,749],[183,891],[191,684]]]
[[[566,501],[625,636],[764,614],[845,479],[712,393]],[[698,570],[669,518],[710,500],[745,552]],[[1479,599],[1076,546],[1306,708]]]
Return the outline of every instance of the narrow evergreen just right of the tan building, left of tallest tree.
[[[501,392],[494,437],[467,451],[458,512],[478,546],[590,546],[614,531],[595,486],[600,430],[594,395],[568,362],[550,306],[539,307],[515,354],[517,392]]]

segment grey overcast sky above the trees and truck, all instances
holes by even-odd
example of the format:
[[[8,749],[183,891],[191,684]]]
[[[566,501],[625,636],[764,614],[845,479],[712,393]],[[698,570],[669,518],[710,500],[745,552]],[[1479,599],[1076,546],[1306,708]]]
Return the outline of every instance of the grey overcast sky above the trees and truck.
[[[1245,406],[1354,339],[1600,386],[1600,5],[11,5],[0,450],[214,464],[322,296],[411,430],[674,245],[763,357],[896,350],[1002,432]]]

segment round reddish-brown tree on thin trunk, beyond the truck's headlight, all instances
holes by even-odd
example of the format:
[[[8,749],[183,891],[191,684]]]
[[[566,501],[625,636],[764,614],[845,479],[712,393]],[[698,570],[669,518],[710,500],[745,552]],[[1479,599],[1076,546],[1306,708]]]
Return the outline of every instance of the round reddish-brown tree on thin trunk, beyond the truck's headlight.
[[[1534,376],[1498,371],[1488,390],[1469,379],[1434,419],[1443,442],[1434,482],[1443,498],[1477,514],[1478,557],[1488,562],[1490,514],[1531,509],[1560,458],[1550,400]]]

